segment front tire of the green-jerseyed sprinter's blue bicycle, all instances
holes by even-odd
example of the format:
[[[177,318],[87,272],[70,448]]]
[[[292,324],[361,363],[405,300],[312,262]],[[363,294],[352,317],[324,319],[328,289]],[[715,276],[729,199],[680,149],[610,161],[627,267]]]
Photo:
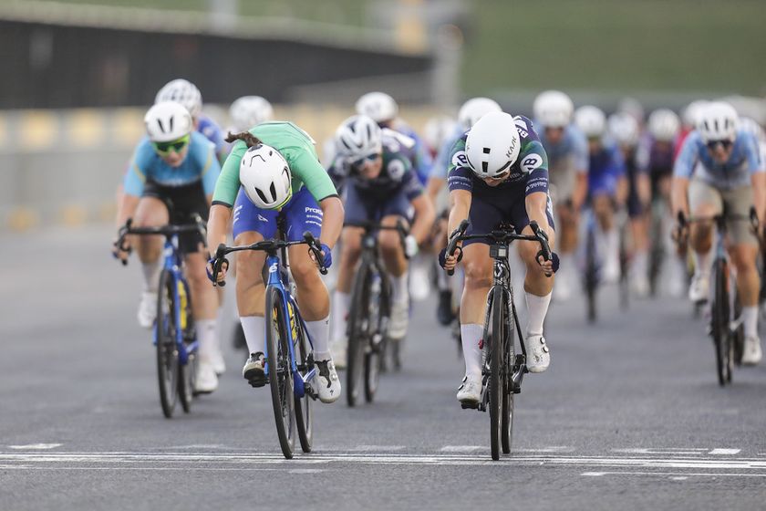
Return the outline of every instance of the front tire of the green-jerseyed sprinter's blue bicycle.
[[[267,363],[274,423],[282,454],[289,460],[295,451],[295,392],[282,295],[276,287],[266,288],[265,312]]]

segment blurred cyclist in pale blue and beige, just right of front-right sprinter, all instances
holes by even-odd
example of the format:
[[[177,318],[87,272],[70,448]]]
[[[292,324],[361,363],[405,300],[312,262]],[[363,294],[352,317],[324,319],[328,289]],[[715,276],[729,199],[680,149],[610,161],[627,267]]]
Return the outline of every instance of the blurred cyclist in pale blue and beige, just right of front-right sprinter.
[[[572,122],[573,111],[572,99],[558,90],[546,90],[534,99],[535,128],[548,155],[550,193],[559,230],[561,268],[554,287],[557,300],[572,294],[577,224],[588,189],[588,145]]]

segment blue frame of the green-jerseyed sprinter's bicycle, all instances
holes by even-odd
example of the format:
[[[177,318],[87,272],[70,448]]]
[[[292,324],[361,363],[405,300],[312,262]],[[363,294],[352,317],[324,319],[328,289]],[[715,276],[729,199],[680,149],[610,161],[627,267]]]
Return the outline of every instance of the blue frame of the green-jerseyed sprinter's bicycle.
[[[301,376],[301,373],[298,371],[298,366],[295,362],[295,343],[298,341],[298,339],[295,339],[294,336],[294,332],[296,332],[297,329],[293,328],[293,321],[298,321],[298,325],[300,325],[300,328],[303,330],[306,339],[308,339],[308,345],[312,350],[314,349],[314,342],[312,341],[308,330],[305,328],[305,321],[303,318],[301,318],[300,312],[298,311],[298,305],[295,303],[295,298],[288,291],[290,287],[289,277],[287,276],[287,272],[284,270],[284,268],[280,267],[280,264],[281,263],[278,256],[268,255],[266,257],[265,266],[268,268],[268,281],[266,282],[266,290],[268,291],[270,287],[275,287],[279,291],[279,296],[282,297],[280,300],[282,304],[282,313],[284,318],[287,318],[289,322],[287,325],[288,328],[285,329],[287,330],[287,336],[290,340],[287,345],[290,347],[290,367],[292,368],[293,381],[295,382],[294,392],[295,396],[302,398],[305,395],[305,385],[312,381],[316,376],[316,367],[308,371],[305,376]],[[290,313],[291,310],[292,314]],[[264,348],[264,351],[265,360],[269,360],[268,346]],[[268,362],[266,362],[264,365],[264,373],[266,377],[268,377]]]

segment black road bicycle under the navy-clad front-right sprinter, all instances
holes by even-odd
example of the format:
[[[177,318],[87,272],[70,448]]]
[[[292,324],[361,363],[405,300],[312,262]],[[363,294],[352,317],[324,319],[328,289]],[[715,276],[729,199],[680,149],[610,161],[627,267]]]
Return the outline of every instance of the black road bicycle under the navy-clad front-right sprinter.
[[[526,346],[513,303],[511,267],[508,263],[510,244],[514,240],[538,242],[540,255],[551,260],[552,252],[546,236],[537,223],[531,222],[533,235],[517,235],[512,225],[501,225],[487,234],[466,235],[469,221],[463,220],[450,235],[447,254],[461,252],[458,243],[464,240],[482,239],[490,242],[490,256],[494,259],[492,287],[487,295],[487,313],[481,348],[481,398],[476,406],[480,412],[490,411],[490,445],[492,459],[500,459],[500,453],[511,452],[513,433],[513,396],[522,391],[526,367]],[[538,255],[539,256],[539,255]],[[461,254],[458,255],[458,259]],[[452,275],[452,272],[448,272]],[[515,339],[519,339],[521,353],[516,352]],[[471,408],[462,404],[463,408]]]

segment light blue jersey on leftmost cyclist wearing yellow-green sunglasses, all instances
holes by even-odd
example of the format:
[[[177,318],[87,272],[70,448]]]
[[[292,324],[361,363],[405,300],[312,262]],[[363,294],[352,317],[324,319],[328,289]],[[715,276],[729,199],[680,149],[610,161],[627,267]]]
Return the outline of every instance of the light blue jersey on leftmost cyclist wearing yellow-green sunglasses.
[[[165,163],[154,151],[149,138],[144,137],[133,153],[128,173],[125,174],[125,193],[140,197],[144,184],[149,180],[170,187],[202,182],[205,195],[211,195],[219,173],[221,165],[215,155],[215,146],[198,131],[191,132],[186,159],[175,168]]]

